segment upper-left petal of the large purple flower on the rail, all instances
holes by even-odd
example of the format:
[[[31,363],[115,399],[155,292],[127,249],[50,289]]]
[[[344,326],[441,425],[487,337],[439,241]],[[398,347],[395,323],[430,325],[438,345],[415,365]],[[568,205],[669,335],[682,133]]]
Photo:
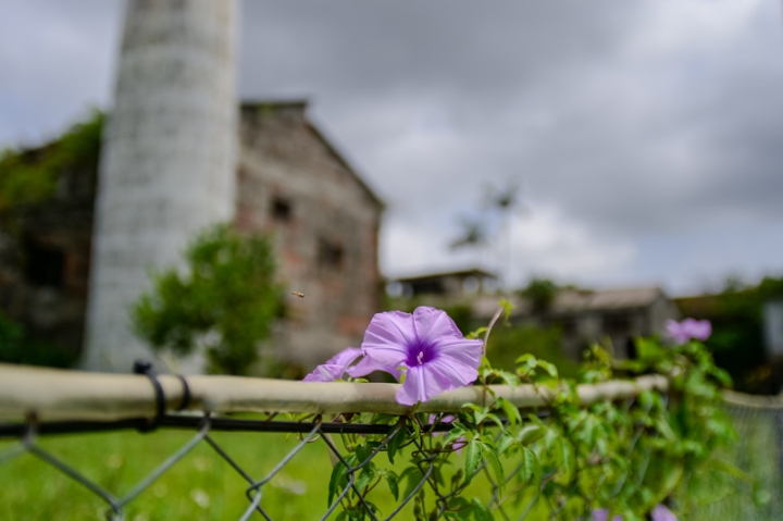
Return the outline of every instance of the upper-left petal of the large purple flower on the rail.
[[[362,349],[375,361],[391,368],[408,359],[409,346],[415,344],[413,317],[402,311],[376,313],[366,332]]]

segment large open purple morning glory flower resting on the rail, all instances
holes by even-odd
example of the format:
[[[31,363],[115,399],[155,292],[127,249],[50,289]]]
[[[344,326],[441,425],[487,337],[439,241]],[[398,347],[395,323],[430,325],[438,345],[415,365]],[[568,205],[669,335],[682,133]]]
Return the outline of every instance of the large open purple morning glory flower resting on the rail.
[[[375,314],[362,350],[384,367],[406,370],[396,399],[412,406],[473,383],[478,377],[482,340],[465,339],[445,311],[421,307],[412,314]]]

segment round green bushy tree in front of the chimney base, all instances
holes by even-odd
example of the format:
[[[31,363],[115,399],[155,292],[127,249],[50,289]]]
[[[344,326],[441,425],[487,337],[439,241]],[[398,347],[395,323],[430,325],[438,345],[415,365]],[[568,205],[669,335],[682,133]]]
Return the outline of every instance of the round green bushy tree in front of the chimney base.
[[[153,274],[133,308],[137,334],[156,350],[187,355],[203,346],[211,373],[247,374],[281,309],[266,237],[214,226],[185,252],[187,273]]]

